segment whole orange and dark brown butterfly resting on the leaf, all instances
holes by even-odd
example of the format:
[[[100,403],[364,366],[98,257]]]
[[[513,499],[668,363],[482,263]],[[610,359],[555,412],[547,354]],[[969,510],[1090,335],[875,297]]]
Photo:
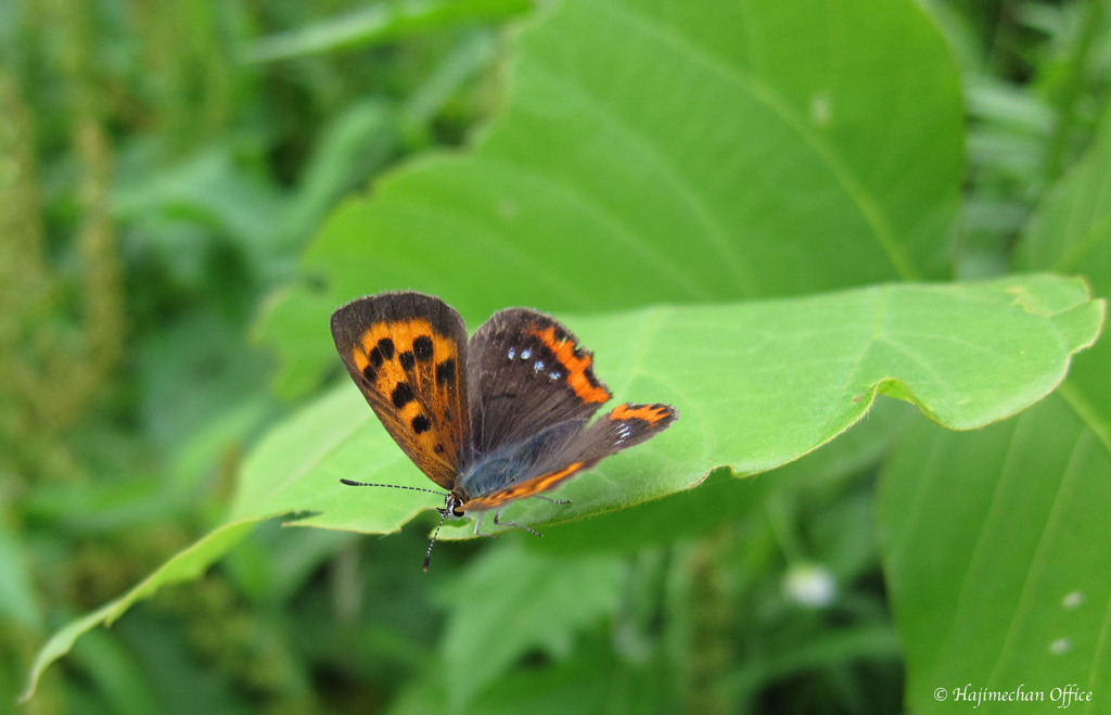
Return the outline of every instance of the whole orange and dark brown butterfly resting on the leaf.
[[[459,313],[418,292],[369,295],[332,314],[332,338],[382,426],[437,485],[444,505],[424,555],[448,518],[540,497],[579,472],[659,434],[678,417],[665,404],[624,403],[590,422],[610,400],[593,354],[543,313],[498,311],[470,340]],[[557,503],[565,501],[549,500]]]

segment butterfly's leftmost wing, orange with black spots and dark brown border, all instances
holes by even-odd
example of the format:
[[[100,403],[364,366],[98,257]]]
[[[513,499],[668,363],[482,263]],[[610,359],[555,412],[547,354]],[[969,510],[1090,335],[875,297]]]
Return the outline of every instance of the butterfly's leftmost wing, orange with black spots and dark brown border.
[[[467,450],[467,326],[421,293],[361,298],[332,314],[332,338],[351,379],[390,436],[450,490]]]

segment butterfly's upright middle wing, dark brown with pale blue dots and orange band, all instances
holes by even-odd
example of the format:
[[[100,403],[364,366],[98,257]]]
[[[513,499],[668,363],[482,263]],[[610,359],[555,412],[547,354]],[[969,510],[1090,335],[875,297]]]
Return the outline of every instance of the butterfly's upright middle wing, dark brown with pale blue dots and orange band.
[[[543,313],[499,311],[479,328],[468,351],[476,454],[489,454],[568,420],[589,420],[610,399],[594,376],[590,351]]]

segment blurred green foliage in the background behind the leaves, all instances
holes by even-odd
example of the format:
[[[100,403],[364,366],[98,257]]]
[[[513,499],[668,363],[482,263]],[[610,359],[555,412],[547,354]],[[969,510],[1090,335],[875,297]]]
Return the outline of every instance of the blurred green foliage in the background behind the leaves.
[[[1105,117],[1109,18],[1098,1],[929,9],[968,101],[955,271],[994,274]],[[50,633],[220,523],[241,454],[291,409],[252,342],[266,301],[300,278],[340,201],[499,109],[503,28],[543,11],[0,6],[0,702]],[[487,707],[542,711],[530,694],[546,693],[582,712],[897,712],[870,423],[761,483],[728,523],[574,563],[569,593],[530,593],[567,564],[516,543],[457,545],[436,565],[447,585],[430,585],[414,567],[427,521],[384,540],[268,524],[83,637],[23,708],[423,712],[512,667]],[[729,483],[681,497],[710,507]],[[507,567],[519,582],[491,582]],[[517,594],[542,620],[580,581],[578,632],[524,652],[490,638],[510,626],[454,607]],[[489,654],[486,679],[444,672],[469,653]]]

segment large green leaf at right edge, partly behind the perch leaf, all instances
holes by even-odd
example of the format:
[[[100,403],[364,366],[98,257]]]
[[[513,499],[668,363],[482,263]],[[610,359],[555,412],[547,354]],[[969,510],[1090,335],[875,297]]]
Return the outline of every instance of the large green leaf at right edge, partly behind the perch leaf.
[[[1111,293],[1111,124],[1049,192],[1025,268],[1084,271]],[[1111,343],[1078,356],[1058,395],[971,435],[918,425],[883,475],[880,533],[905,644],[908,706],[953,688],[1111,687]]]

